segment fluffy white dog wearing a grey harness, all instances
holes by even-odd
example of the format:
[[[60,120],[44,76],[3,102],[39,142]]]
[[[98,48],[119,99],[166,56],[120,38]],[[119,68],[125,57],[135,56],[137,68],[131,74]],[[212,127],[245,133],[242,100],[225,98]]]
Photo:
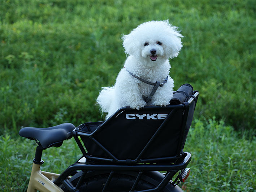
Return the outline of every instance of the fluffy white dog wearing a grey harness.
[[[169,104],[174,87],[169,58],[178,56],[182,37],[168,20],[142,23],[123,35],[123,47],[129,56],[115,85],[103,87],[97,98],[102,111],[108,113],[106,119],[123,106],[139,110],[145,105]]]

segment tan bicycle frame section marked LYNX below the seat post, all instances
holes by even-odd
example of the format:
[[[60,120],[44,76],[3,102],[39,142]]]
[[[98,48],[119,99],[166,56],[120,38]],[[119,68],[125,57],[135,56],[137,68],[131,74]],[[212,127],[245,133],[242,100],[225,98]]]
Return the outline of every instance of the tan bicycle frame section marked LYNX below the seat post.
[[[53,183],[59,174],[40,171],[40,165],[33,163],[27,192],[64,192]]]

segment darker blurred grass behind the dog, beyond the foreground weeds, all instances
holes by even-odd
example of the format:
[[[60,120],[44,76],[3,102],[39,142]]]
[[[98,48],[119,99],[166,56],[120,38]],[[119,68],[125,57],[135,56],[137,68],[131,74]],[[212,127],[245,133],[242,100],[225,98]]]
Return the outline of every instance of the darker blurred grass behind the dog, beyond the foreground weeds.
[[[169,19],[185,38],[170,60],[175,89],[200,92],[195,116],[255,128],[254,1],[3,1],[1,133],[99,120],[95,100],[123,66],[121,36]],[[255,4],[254,4],[255,5]],[[103,117],[101,118],[103,119]],[[17,132],[17,131],[16,131]]]

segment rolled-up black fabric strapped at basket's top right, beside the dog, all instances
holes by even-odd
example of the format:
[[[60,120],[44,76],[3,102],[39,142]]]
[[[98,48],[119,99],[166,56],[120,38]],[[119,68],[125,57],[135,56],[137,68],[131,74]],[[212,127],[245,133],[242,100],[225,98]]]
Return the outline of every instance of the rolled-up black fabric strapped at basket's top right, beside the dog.
[[[192,94],[193,87],[186,83],[178,88],[177,91],[174,92],[173,98],[170,100],[170,105],[179,105],[183,102],[187,101],[188,97]]]

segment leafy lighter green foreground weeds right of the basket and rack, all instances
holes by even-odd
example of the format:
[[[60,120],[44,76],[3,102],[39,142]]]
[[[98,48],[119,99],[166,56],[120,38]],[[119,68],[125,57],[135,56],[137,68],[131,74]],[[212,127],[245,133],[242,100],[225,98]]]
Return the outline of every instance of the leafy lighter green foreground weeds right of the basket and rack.
[[[241,138],[233,127],[215,119],[195,119],[187,138],[184,150],[192,154],[187,191],[255,190],[255,138]]]

